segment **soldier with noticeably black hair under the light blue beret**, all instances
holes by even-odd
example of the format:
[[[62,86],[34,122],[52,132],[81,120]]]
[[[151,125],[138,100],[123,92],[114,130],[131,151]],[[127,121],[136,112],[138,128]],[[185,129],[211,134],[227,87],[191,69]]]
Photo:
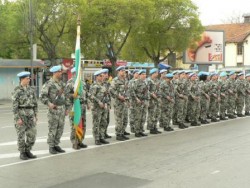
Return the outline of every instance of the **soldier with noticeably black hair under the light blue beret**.
[[[209,121],[207,120],[207,112],[209,109],[209,101],[210,97],[208,95],[209,92],[209,85],[207,81],[207,76],[209,73],[207,72],[199,72],[199,80],[200,80],[200,88],[201,88],[201,113],[200,113],[200,120],[202,124],[208,124]]]

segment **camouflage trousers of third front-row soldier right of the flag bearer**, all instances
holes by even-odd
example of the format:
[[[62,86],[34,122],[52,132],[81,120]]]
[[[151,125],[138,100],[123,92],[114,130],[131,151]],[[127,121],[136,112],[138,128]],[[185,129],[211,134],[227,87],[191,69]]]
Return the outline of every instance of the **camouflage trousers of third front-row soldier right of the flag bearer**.
[[[147,105],[137,104],[135,107],[135,133],[143,132],[146,123]]]

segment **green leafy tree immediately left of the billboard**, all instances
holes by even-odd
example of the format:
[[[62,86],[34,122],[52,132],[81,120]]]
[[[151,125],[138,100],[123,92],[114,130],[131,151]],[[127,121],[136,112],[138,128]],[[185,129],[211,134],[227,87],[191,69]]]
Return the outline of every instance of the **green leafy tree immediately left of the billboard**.
[[[155,63],[184,51],[203,31],[197,7],[191,0],[152,0],[150,19],[131,35],[130,48],[144,52]],[[133,46],[133,47],[131,47]]]

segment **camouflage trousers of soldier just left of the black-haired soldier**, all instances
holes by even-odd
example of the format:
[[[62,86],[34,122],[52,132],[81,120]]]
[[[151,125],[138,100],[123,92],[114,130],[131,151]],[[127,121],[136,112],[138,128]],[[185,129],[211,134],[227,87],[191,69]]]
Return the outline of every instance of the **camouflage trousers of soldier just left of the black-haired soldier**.
[[[190,100],[189,102],[189,118],[190,121],[193,123],[198,123],[200,112],[201,112],[201,105],[200,100]]]

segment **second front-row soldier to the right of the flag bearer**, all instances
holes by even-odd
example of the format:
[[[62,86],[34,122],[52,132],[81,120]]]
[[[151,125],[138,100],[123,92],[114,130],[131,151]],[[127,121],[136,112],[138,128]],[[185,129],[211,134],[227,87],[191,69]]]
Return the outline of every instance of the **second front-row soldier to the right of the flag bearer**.
[[[114,98],[114,114],[115,114],[115,131],[116,140],[125,141],[129,138],[125,135],[124,118],[127,118],[127,80],[125,75],[125,66],[120,66],[116,69],[118,71],[110,86],[111,97]]]

